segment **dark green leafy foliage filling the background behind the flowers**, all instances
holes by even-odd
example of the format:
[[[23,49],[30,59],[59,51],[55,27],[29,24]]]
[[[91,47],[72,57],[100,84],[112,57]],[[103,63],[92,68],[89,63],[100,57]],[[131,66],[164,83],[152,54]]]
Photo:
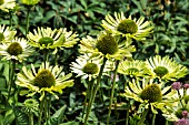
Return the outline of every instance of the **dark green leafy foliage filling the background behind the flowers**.
[[[67,28],[68,30],[76,31],[80,38],[87,34],[96,37],[102,29],[100,27],[101,20],[105,19],[107,13],[123,11],[126,17],[130,14],[139,18],[146,17],[155,24],[153,33],[142,42],[135,42],[137,52],[133,53],[135,59],[147,59],[155,54],[169,55],[175,58],[178,62],[189,67],[189,1],[188,0],[41,0],[38,6],[32,8],[30,14],[30,31],[37,27],[50,27],[52,29]],[[19,11],[13,15],[13,27],[19,32],[17,35],[23,37],[26,27],[26,9],[21,6]],[[0,11],[0,24],[9,24],[9,15]],[[76,60],[78,55],[78,45],[72,49],[66,49],[59,52],[58,63],[64,65],[64,71],[70,72],[69,64]],[[30,62],[39,64],[40,55],[33,55],[29,59]],[[7,64],[0,65],[0,81],[3,83],[9,73]],[[19,69],[18,69],[19,70]],[[186,77],[188,80],[188,77]],[[183,80],[183,81],[186,81]],[[108,80],[107,80],[108,81]],[[103,98],[107,101],[110,90],[110,82],[105,80],[102,88]],[[122,85],[125,77],[120,77],[118,85]],[[59,119],[62,125],[72,125],[73,122],[80,119],[82,111],[83,92],[86,81],[74,77],[74,86],[68,88],[60,100],[52,103],[52,113],[60,110],[54,114],[52,121]],[[2,87],[1,87],[2,86]],[[121,88],[121,87],[120,87]],[[117,90],[117,92],[121,90]],[[3,84],[0,84],[0,92],[3,93]],[[97,96],[99,97],[99,96]],[[100,98],[100,97],[99,97]],[[23,98],[19,98],[23,100]],[[3,96],[0,95],[0,103]],[[107,108],[103,107],[100,101],[96,102],[97,111],[90,115],[91,124],[103,125]],[[120,102],[125,101],[122,98]],[[127,102],[127,101],[126,101]],[[107,104],[108,105],[108,104]],[[9,108],[9,107],[8,107]],[[123,107],[127,108],[127,107]],[[16,108],[18,115],[21,111]],[[1,111],[2,112],[2,111]],[[121,123],[125,116],[121,116],[123,110],[119,113],[113,113],[116,117],[111,121]],[[22,117],[22,116],[18,116]],[[59,118],[54,118],[59,117]],[[163,121],[159,116],[160,121]],[[11,112],[7,112],[4,116],[0,115],[0,119],[11,123],[13,121]],[[137,118],[137,117],[132,117]],[[131,118],[131,121],[132,121]],[[72,121],[72,122],[70,122]],[[19,122],[19,119],[17,119]],[[54,124],[57,124],[54,122]],[[68,122],[68,123],[67,123]],[[53,122],[51,122],[52,124]],[[77,123],[74,123],[77,125]],[[1,125],[1,123],[0,123]],[[133,123],[135,125],[135,123]]]

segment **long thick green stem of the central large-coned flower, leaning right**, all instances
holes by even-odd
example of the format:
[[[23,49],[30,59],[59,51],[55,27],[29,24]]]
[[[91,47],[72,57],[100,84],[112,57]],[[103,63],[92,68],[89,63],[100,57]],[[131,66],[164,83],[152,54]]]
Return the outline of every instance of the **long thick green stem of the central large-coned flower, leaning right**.
[[[100,67],[100,72],[99,72],[99,75],[98,75],[98,79],[97,79],[97,85],[96,85],[96,87],[93,90],[93,93],[91,95],[91,98],[89,101],[89,106],[87,108],[87,114],[86,114],[86,118],[84,118],[84,124],[83,125],[87,125],[87,122],[88,122],[88,118],[89,118],[89,114],[91,112],[91,107],[92,107],[92,104],[93,104],[97,91],[99,90],[99,85],[100,85],[100,81],[101,81],[101,76],[102,76],[102,73],[103,73],[103,69],[105,69],[106,62],[107,62],[107,58],[103,56],[103,63],[102,63],[102,65]]]

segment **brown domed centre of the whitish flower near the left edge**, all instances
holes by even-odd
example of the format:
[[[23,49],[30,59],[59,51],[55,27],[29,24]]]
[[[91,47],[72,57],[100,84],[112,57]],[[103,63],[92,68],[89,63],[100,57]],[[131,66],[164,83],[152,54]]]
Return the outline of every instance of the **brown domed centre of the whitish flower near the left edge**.
[[[11,55],[19,55],[22,53],[22,48],[20,45],[20,43],[18,42],[12,42],[9,48],[7,49],[7,52]]]

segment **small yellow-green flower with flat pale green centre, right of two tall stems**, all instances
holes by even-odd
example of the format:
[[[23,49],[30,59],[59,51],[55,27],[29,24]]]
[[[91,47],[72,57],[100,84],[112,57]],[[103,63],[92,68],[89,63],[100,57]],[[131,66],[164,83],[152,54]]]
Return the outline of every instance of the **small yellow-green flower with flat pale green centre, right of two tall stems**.
[[[130,75],[131,77],[145,76],[148,72],[146,63],[140,60],[122,61],[118,67],[118,73]]]

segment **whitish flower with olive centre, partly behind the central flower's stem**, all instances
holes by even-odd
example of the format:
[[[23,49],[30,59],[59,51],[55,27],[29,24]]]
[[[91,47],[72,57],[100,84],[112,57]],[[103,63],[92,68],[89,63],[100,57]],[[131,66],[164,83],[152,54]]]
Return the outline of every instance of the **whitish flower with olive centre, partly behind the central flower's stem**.
[[[89,77],[89,81],[91,81],[92,77],[96,79],[98,76],[102,60],[98,58],[91,58],[91,54],[82,54],[76,59],[76,62],[70,64],[70,69],[77,74],[77,77]],[[106,74],[108,71],[111,71],[112,69],[113,65],[111,62],[107,61],[103,74]]]

